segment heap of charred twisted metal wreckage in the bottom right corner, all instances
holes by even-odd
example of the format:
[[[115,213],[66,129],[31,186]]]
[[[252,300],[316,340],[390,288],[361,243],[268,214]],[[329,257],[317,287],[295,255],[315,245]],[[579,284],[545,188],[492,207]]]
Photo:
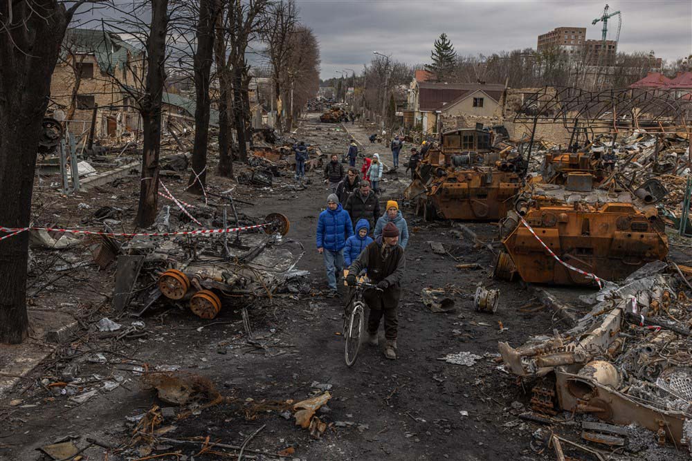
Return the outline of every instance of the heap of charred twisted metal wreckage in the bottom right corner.
[[[535,384],[538,415],[590,414],[637,424],[659,444],[687,446],[692,437],[691,285],[655,261],[582,297],[590,313],[574,328],[500,343],[507,370]],[[691,420],[692,421],[692,420]]]

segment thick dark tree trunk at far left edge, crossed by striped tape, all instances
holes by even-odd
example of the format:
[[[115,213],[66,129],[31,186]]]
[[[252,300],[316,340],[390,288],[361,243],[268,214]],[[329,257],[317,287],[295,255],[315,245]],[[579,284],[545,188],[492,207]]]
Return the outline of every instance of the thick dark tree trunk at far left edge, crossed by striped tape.
[[[0,2],[2,21],[9,4]],[[70,19],[57,0],[13,1],[12,23],[0,32],[0,226],[29,225],[41,124]],[[0,343],[21,343],[28,335],[28,242],[28,232],[0,241]]]

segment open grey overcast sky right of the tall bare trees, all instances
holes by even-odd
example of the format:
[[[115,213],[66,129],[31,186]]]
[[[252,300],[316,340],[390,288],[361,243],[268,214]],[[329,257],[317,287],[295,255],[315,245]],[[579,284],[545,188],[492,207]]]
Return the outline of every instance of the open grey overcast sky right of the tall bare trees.
[[[320,41],[322,79],[345,68],[360,73],[373,50],[408,64],[426,64],[441,32],[459,55],[536,48],[538,35],[561,26],[586,27],[587,39],[600,39],[603,23],[592,26],[591,21],[601,17],[605,7],[605,1],[589,0],[297,1],[302,22]],[[692,54],[691,0],[608,4],[611,12],[622,13],[619,50],[654,50],[664,59]],[[617,22],[617,17],[608,21],[608,39],[615,39]]]

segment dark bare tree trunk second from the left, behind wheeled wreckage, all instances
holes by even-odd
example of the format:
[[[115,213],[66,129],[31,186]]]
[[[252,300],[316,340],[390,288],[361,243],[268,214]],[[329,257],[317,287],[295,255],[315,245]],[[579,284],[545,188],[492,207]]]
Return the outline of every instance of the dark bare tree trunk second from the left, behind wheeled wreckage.
[[[142,180],[136,223],[149,227],[158,204],[158,154],[161,150],[161,99],[163,98],[168,0],[152,0],[152,26],[147,40],[147,91],[142,104]]]

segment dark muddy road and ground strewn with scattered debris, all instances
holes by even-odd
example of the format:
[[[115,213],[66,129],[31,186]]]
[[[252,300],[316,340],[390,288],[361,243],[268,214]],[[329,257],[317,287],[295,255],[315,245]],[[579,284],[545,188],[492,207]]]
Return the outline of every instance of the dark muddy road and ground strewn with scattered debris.
[[[367,129],[352,125],[346,128],[368,152],[385,153],[383,146],[367,141]],[[302,120],[298,138],[320,144],[323,151],[345,151],[347,146],[343,126],[320,124],[316,114]],[[383,159],[391,163],[389,154]],[[531,383],[518,382],[500,370],[493,359],[498,341],[516,346],[529,335],[549,334],[553,328],[564,327],[561,317],[545,308],[536,310],[530,288],[492,279],[493,252],[477,247],[458,227],[425,223],[413,216],[411,209],[404,208],[411,238],[399,309],[399,357],[388,361],[381,346],[363,346],[358,362],[347,368],[340,335],[344,299],[322,297],[325,276],[314,242],[316,220],[326,205],[327,190],[320,180],[321,173],[308,176],[311,184],[304,190],[281,187],[293,184],[291,176],[282,178],[272,190],[237,189],[242,191],[237,197],[254,204],[240,205],[242,213],[262,220],[268,212],[277,211],[289,218],[291,230],[286,238],[304,245],[306,254],[298,268],[310,272],[312,288],[310,294],[278,297],[253,307],[252,341],[248,341],[242,319],[233,308],[222,310],[214,321],[204,321],[187,309],[165,303],[159,303],[141,319],[146,336],[129,341],[99,339],[89,323],[111,315],[114,265],[98,270],[91,263],[86,245],[82,250],[35,252],[32,290],[60,274],[50,268],[42,273],[52,259],[89,261],[89,265],[51,281],[33,297],[33,316],[39,312],[68,312],[80,319],[83,328],[69,344],[57,348],[33,373],[21,379],[2,402],[0,459],[39,460],[43,456],[36,451],[39,446],[66,437],[75,438],[80,448],[86,446],[86,438],[126,447],[106,454],[106,449],[91,446],[82,453],[88,460],[135,460],[156,455],[153,459],[228,459],[228,455],[221,454],[224,451],[236,453],[232,459],[237,458],[233,449],[217,448],[213,450],[216,453],[198,454],[199,443],[161,439],[152,446],[153,451],[140,451],[132,444],[134,423],[127,418],[145,413],[154,404],[170,406],[143,386],[138,373],[143,368],[183,370],[207,377],[223,397],[228,397],[221,404],[191,413],[174,408],[176,417],[166,413],[163,425],[174,427],[163,438],[181,441],[208,437],[210,442],[239,446],[261,429],[247,445],[250,451],[246,454],[255,459],[277,459],[276,453],[289,447],[295,450],[286,456],[289,460],[555,459],[552,449],[538,453],[540,448],[531,448],[531,434],[540,425],[518,418],[527,409]],[[406,183],[395,179],[405,178],[403,171],[385,176],[390,180],[384,183],[382,203],[398,198]],[[199,198],[182,191],[185,180],[185,175],[165,178],[176,196],[194,203]],[[208,182],[215,191],[235,184],[215,176]],[[37,195],[35,218],[37,222],[69,227],[78,225],[93,207],[108,204],[124,210],[124,227],[131,229],[127,223],[134,216],[137,186],[138,178],[131,176],[76,198],[56,198],[42,191]],[[80,203],[91,208],[80,208]],[[467,226],[482,241],[492,243],[496,239],[495,225]],[[449,254],[434,254],[430,241],[442,243]],[[479,263],[482,268],[456,269],[460,263]],[[473,310],[477,283],[499,288],[500,306],[494,315]],[[431,312],[421,303],[421,290],[426,287],[445,287],[455,297],[455,310]],[[131,314],[127,312],[116,320],[127,326],[138,320]],[[31,340],[41,341],[39,337]],[[482,358],[473,366],[440,360],[462,351]],[[66,356],[71,355],[76,362],[86,352],[101,352],[107,363],[81,361],[78,375],[98,383],[119,376],[122,382],[118,387],[112,391],[100,389],[98,395],[78,404],[37,384],[43,377],[60,376],[69,364]],[[332,398],[327,408],[318,412],[329,428],[320,440],[313,440],[307,430],[295,426],[292,417],[285,413],[282,416],[283,407],[287,399],[297,402],[329,386]],[[557,415],[556,420],[566,421],[553,424],[556,433],[580,441],[579,424],[571,421],[572,415]],[[660,459],[678,458],[673,450],[650,449],[653,433],[644,431],[641,437],[648,440],[635,447],[639,454],[621,449],[620,459],[656,459],[655,455],[661,455]]]

